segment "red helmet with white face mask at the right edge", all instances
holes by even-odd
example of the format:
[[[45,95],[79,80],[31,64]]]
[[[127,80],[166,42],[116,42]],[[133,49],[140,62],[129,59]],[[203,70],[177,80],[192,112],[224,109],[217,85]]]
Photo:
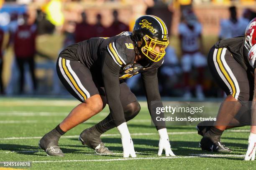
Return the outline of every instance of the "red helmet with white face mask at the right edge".
[[[256,44],[256,18],[253,18],[247,25],[245,38],[244,46],[250,51],[251,47]]]

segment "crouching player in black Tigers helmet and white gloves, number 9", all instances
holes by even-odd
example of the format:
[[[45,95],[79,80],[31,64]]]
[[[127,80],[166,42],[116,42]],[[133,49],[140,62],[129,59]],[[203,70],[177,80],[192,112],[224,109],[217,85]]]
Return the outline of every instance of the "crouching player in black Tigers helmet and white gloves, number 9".
[[[109,105],[110,114],[94,127],[84,130],[80,136],[83,145],[95,149],[96,153],[111,154],[100,140],[105,131],[117,127],[123,144],[123,156],[136,157],[133,142],[126,122],[140,111],[136,96],[124,78],[141,73],[146,90],[148,109],[152,120],[151,101],[161,101],[157,68],[164,62],[165,48],[169,44],[164,22],[153,15],[144,15],[136,20],[133,32],[122,32],[114,37],[97,37],[70,45],[57,60],[59,78],[67,90],[81,104],[53,130],[44,135],[39,146],[48,155],[64,156],[58,140],[68,130],[88,120]],[[154,107],[162,107],[162,103]],[[158,115],[164,117],[163,114]],[[174,155],[164,122],[155,122],[159,131],[159,155]],[[95,139],[97,139],[95,141]]]

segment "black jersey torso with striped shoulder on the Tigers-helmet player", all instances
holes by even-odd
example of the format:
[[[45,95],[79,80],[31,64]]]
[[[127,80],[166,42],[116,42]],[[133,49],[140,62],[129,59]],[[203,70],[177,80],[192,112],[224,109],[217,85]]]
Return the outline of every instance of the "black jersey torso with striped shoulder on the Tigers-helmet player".
[[[108,51],[113,63],[121,67],[120,79],[130,78],[138,73],[157,69],[164,61],[164,59],[161,59],[159,62],[151,62],[145,58],[138,63],[134,63],[135,51],[131,32],[122,32],[114,37],[90,38],[71,45],[67,49],[70,49],[75,55],[61,53],[62,57],[68,60],[78,60],[97,75],[100,74],[99,67],[102,66],[102,52],[104,50]]]

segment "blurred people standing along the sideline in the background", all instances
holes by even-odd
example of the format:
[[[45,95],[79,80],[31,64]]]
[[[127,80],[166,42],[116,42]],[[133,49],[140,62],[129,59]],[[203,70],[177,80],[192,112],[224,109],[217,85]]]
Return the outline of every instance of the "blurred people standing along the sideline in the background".
[[[144,13],[153,14],[152,5]],[[166,6],[168,10],[170,8]],[[219,40],[244,35],[249,21],[255,17],[255,12],[250,9],[243,10],[241,17],[238,17],[235,6],[229,8],[229,18],[220,21]],[[143,13],[143,12],[142,12]],[[161,13],[161,12],[160,12]],[[106,27],[102,24],[102,15],[97,13],[96,22],[88,22],[88,12],[82,10],[79,15],[81,20],[67,21],[65,29],[61,28],[64,36],[61,51],[64,47],[76,42],[88,40],[91,37],[112,37],[123,31],[131,31],[131,26],[120,20],[118,10],[111,10],[113,21]],[[172,11],[170,11],[170,19]],[[168,17],[167,17],[168,18]],[[1,27],[0,27],[1,28]],[[42,34],[55,34],[56,25],[49,22],[46,15],[38,10],[34,19],[31,13],[10,13],[8,27],[0,29],[0,94],[67,94],[62,87],[55,71],[55,60],[39,52],[36,48],[36,38]],[[184,97],[189,100],[197,97],[203,100],[205,97],[222,97],[216,84],[209,78],[207,70],[207,51],[202,40],[202,25],[191,5],[180,8],[180,22],[178,24],[178,44],[180,52],[177,52],[172,45],[166,48],[164,64],[159,69],[159,88],[162,96]],[[4,37],[8,34],[8,41],[4,43]],[[172,39],[170,34],[170,37]],[[172,42],[170,43],[172,44]],[[212,44],[213,45],[213,44]],[[10,80],[3,85],[3,63],[5,62],[5,50],[13,49],[14,60],[10,70]],[[179,54],[179,55],[178,55]],[[44,58],[47,62],[35,62],[35,56]],[[36,70],[51,70],[51,79],[48,82],[38,81]],[[47,75],[47,74],[46,74]],[[128,86],[137,95],[144,95],[140,75],[133,76],[126,80]],[[50,85],[49,85],[50,84]],[[46,88],[50,86],[50,88]]]

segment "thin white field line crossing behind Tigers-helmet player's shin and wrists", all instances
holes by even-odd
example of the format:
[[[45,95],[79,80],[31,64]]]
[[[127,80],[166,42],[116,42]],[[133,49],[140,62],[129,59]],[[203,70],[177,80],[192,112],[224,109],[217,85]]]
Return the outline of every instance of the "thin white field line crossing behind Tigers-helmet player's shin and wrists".
[[[105,116],[105,115],[104,115]],[[15,123],[53,123],[53,122],[61,122],[62,120],[0,120],[0,124],[15,124]],[[97,123],[101,120],[87,120],[83,123],[92,122]],[[138,119],[133,120],[132,122],[151,122],[151,120],[147,119]]]

